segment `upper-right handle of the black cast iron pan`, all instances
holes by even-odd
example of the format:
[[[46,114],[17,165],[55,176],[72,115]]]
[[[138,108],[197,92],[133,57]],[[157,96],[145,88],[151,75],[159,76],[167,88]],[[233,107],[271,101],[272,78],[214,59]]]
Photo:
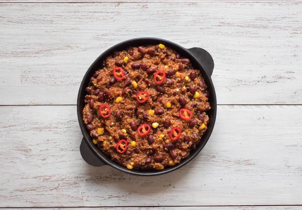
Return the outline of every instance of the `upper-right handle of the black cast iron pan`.
[[[212,76],[214,70],[214,61],[212,56],[202,48],[188,49],[204,66],[205,70]]]

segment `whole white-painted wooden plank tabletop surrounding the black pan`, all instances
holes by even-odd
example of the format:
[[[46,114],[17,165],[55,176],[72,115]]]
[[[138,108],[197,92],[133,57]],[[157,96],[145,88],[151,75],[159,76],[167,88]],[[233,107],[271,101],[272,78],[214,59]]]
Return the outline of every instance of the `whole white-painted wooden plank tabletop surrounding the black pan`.
[[[136,37],[202,47],[215,62],[211,138],[156,177],[79,152],[80,82]],[[0,0],[0,207],[302,209],[301,58],[297,0]]]

